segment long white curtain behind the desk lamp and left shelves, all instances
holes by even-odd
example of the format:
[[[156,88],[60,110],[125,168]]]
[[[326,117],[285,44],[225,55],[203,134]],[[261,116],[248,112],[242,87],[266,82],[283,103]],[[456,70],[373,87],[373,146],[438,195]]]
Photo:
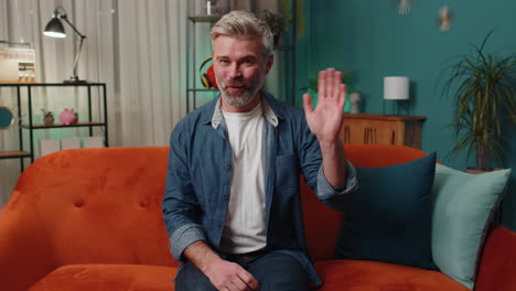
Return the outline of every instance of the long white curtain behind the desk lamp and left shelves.
[[[58,6],[87,36],[78,76],[107,84],[109,146],[166,146],[174,125],[185,115],[187,0],[0,0],[0,40],[32,44],[42,83],[69,78],[77,50],[78,37],[67,24],[69,36],[64,40],[42,34]],[[65,104],[80,118],[87,110],[83,94],[74,88],[36,90],[33,96],[41,97],[33,98],[33,115],[39,116],[33,118],[41,119],[40,108],[57,117]],[[13,89],[0,89],[1,105],[17,108]],[[55,138],[56,133],[43,130],[40,134]],[[0,150],[18,147],[17,126],[0,131]],[[9,198],[19,174],[18,160],[0,160],[0,203]]]

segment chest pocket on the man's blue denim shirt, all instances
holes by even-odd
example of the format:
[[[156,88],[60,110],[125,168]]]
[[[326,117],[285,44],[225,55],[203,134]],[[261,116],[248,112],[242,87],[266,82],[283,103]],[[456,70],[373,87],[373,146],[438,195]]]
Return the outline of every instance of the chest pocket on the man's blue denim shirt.
[[[276,157],[275,185],[279,190],[299,188],[299,159],[295,154]]]

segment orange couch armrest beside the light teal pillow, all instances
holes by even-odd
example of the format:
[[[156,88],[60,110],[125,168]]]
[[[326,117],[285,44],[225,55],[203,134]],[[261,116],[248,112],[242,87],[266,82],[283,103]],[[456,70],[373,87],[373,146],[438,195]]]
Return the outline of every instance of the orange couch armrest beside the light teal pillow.
[[[475,283],[476,291],[516,290],[516,234],[497,226],[487,237]]]

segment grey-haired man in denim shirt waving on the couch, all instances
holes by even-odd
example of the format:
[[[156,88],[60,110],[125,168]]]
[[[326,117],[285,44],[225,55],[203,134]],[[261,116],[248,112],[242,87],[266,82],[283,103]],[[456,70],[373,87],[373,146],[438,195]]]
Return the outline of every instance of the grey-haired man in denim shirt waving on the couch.
[[[300,174],[332,207],[348,204],[356,174],[338,139],[342,73],[319,74],[319,103],[303,111],[262,90],[272,35],[233,11],[212,29],[217,100],[171,136],[163,214],[176,290],[308,290],[321,280],[308,258]]]

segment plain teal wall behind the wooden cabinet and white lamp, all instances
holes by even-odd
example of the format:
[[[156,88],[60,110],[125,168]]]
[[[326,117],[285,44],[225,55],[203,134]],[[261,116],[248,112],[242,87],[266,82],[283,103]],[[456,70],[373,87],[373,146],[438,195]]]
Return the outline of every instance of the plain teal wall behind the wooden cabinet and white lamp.
[[[443,69],[471,52],[494,29],[485,47],[504,55],[516,52],[516,1],[514,0],[415,0],[412,11],[399,15],[395,1],[318,0],[307,6],[307,40],[300,40],[298,63],[303,71],[298,84],[327,66],[352,69],[353,86],[362,91],[362,110],[383,112],[383,77],[409,76],[410,114],[427,116],[422,150],[437,151],[438,159],[458,170],[474,165],[473,157],[447,158],[453,144],[451,99],[441,94]],[[438,30],[438,10],[443,4],[454,12],[452,28]],[[304,79],[303,79],[304,78]],[[390,105],[386,107],[390,112]],[[503,166],[514,170],[504,201],[503,224],[516,230],[516,129],[508,125],[505,142],[508,157]]]

